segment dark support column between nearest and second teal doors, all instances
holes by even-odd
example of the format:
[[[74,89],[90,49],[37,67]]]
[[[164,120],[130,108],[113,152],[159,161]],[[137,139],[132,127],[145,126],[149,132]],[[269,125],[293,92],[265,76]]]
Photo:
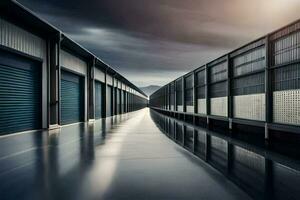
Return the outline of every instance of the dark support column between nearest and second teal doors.
[[[49,42],[49,57],[50,57],[50,109],[49,109],[49,129],[59,127],[61,121],[60,114],[60,43],[61,34],[59,33]]]

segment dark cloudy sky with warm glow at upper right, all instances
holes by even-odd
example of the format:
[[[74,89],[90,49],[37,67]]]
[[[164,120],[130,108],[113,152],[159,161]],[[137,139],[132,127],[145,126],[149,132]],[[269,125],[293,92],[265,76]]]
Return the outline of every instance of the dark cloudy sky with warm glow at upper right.
[[[18,0],[138,86],[300,18],[300,0]]]

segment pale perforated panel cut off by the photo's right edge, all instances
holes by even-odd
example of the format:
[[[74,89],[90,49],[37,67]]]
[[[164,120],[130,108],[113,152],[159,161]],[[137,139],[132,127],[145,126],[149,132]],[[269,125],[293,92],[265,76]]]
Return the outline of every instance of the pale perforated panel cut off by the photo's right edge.
[[[300,89],[273,93],[273,120],[277,123],[300,125]]]

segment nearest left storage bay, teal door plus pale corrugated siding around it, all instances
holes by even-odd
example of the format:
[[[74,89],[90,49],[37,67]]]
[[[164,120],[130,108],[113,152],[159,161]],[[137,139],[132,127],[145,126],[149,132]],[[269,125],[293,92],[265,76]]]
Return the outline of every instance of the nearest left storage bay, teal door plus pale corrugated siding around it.
[[[0,135],[47,127],[46,41],[0,17]]]

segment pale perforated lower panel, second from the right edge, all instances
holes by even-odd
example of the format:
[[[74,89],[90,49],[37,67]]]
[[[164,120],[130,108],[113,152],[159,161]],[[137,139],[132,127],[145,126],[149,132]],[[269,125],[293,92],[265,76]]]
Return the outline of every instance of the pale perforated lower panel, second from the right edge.
[[[235,118],[265,121],[265,94],[241,95],[233,97]]]

